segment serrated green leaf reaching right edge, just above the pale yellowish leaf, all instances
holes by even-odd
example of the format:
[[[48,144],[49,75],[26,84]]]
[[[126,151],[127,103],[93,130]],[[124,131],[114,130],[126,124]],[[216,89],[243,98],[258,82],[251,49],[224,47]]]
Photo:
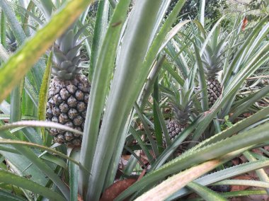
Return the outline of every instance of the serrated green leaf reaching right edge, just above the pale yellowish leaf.
[[[224,154],[228,154],[231,151],[240,149],[243,151],[244,147],[249,147],[253,146],[254,144],[265,142],[269,139],[268,132],[266,131],[268,128],[269,123],[261,125],[260,127],[256,127],[255,129],[249,130],[248,132],[244,132],[244,134],[239,134],[229,139],[222,140],[221,142],[209,145],[200,150],[186,151],[178,158],[169,161],[161,168],[149,173],[147,176],[139,180],[137,183],[125,190],[125,192],[123,192],[118,197],[118,199],[123,199],[124,197],[135,193],[135,191],[139,190],[139,188],[144,187],[146,183],[149,185],[150,183],[156,182],[165,176],[181,171],[183,168],[188,168],[197,163],[217,158]],[[253,135],[254,133],[255,135]]]

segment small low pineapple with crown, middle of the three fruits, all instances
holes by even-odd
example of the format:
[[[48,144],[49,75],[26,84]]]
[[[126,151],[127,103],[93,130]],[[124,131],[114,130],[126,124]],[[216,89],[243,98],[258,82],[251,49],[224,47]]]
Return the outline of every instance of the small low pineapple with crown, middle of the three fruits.
[[[166,128],[168,130],[169,137],[171,141],[181,134],[186,127],[188,127],[188,120],[192,110],[192,95],[194,88],[189,87],[189,81],[186,79],[183,88],[179,91],[176,90],[175,87],[174,92],[175,96],[170,96],[171,105],[173,107],[173,119],[169,120],[166,124]],[[178,147],[179,149],[183,148]]]

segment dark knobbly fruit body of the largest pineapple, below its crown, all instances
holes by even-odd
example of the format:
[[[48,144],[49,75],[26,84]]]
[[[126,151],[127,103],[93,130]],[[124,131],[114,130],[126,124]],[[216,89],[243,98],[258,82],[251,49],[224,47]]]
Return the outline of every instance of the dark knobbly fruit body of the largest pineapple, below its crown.
[[[91,86],[86,76],[76,75],[73,80],[53,79],[47,102],[47,121],[59,122],[76,130],[84,130],[86,108]],[[50,129],[54,141],[67,147],[80,147],[82,136],[64,130]]]

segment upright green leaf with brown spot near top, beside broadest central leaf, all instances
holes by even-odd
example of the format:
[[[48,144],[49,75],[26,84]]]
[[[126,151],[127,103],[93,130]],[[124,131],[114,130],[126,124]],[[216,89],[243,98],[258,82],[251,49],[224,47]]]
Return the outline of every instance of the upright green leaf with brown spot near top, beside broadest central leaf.
[[[115,13],[110,21],[108,31],[103,40],[101,54],[98,57],[96,69],[93,75],[93,84],[89,98],[87,118],[84,128],[84,139],[81,147],[80,162],[88,170],[91,169],[93,163],[93,155],[96,149],[96,142],[99,131],[99,124],[103,107],[105,104],[105,96],[109,88],[110,77],[113,72],[116,50],[120,40],[120,31],[126,18],[127,8],[130,1],[120,1]],[[79,193],[82,194],[83,189],[88,189],[88,173],[80,171],[79,173]]]

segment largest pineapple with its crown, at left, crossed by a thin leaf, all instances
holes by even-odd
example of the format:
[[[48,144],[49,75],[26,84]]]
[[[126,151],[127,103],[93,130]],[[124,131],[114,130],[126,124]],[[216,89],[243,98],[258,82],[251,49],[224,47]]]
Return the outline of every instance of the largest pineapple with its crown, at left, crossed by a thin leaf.
[[[53,79],[47,101],[47,121],[83,131],[91,86],[86,76],[80,73],[81,41],[78,34],[74,33],[74,28],[69,28],[53,47]],[[60,144],[81,146],[82,136],[79,134],[54,128],[50,129],[50,134]]]

